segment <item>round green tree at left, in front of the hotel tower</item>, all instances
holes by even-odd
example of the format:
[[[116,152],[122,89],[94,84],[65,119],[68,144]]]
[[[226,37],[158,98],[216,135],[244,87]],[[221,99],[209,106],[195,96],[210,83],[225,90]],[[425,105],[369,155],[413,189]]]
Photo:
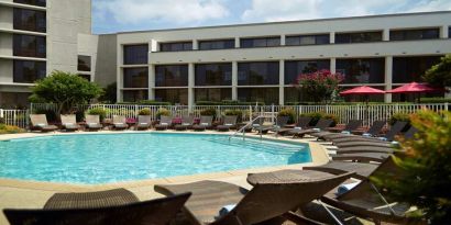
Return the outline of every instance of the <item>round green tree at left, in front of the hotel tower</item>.
[[[57,70],[35,83],[30,101],[56,104],[58,115],[74,113],[74,106],[89,103],[103,93],[98,85],[78,75]]]

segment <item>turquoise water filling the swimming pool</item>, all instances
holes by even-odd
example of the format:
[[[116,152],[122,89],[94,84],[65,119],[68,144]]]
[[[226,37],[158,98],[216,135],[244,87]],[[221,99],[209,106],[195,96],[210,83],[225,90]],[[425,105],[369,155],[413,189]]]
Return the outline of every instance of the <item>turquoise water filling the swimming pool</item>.
[[[311,161],[307,144],[208,134],[84,134],[0,142],[0,178],[109,183]]]

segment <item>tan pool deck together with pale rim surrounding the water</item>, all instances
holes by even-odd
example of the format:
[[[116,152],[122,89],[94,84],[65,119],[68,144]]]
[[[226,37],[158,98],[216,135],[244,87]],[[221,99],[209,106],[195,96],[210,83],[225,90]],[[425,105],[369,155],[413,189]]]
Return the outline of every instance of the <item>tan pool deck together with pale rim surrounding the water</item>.
[[[118,134],[121,132],[77,132],[77,133],[24,133],[24,134],[11,134],[11,135],[0,135],[0,140],[11,139],[11,138],[23,138],[23,137],[36,137],[36,136],[48,136],[48,135],[74,135],[74,134]],[[127,131],[124,133],[134,133],[133,131]],[[141,132],[140,132],[141,133]],[[148,131],[144,133],[157,133],[154,131]],[[161,132],[158,132],[161,133]],[[195,134],[233,134],[229,133],[218,133],[218,132],[174,132],[165,131],[164,133],[195,133]],[[260,137],[255,134],[246,134],[246,136]],[[244,169],[244,170],[233,170],[224,172],[215,173],[201,173],[193,176],[180,176],[180,177],[169,177],[161,179],[148,179],[140,181],[128,181],[108,184],[68,184],[68,183],[52,183],[52,182],[38,182],[38,181],[24,181],[24,180],[9,180],[0,179],[0,210],[3,209],[42,209],[45,202],[56,192],[87,192],[87,191],[100,191],[114,188],[127,188],[136,194],[140,200],[150,200],[155,198],[161,198],[160,193],[154,191],[155,184],[170,184],[170,183],[186,183],[200,180],[219,180],[230,183],[234,183],[244,188],[251,189],[252,187],[246,182],[246,175],[250,172],[265,172],[275,171],[283,169],[301,169],[304,166],[318,166],[323,165],[329,161],[328,149],[326,147],[327,143],[316,142],[315,138],[298,138],[292,139],[289,137],[274,137],[273,135],[264,135],[265,139],[278,139],[278,140],[290,140],[295,143],[307,143],[310,146],[310,153],[312,162],[298,164],[289,166],[278,166],[278,167],[267,167],[267,168],[256,168],[256,169]],[[0,225],[8,224],[3,213],[0,214]]]

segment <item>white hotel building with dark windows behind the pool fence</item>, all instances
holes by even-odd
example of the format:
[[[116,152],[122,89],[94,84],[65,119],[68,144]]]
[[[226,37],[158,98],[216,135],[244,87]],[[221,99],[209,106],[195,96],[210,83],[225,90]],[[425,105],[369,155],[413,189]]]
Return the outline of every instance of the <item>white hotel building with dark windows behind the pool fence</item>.
[[[0,10],[16,7],[2,1],[6,0],[0,0]],[[55,2],[73,1],[51,1],[58,4]],[[90,1],[86,5],[90,9]],[[47,14],[55,9],[44,8]],[[77,16],[90,19],[90,14]],[[73,20],[74,24],[82,21],[78,19]],[[73,33],[77,36],[74,50],[65,50],[64,60],[56,56],[61,46],[52,44],[64,31],[52,30],[56,16],[46,20],[51,31],[44,35],[46,74],[64,69],[102,86],[117,82],[121,102],[150,99],[195,105],[221,100],[266,104],[308,101],[293,83],[299,74],[317,69],[343,74],[344,87],[367,85],[389,90],[418,80],[441,56],[451,54],[450,11],[106,35],[78,30]],[[26,93],[33,78],[40,78],[31,76],[26,82],[16,82],[20,75],[14,60],[24,58],[14,55],[16,45],[7,43],[4,36],[23,32],[6,30],[6,24],[0,22],[0,104],[6,101],[4,93]],[[6,69],[4,65],[15,69]],[[385,94],[378,100],[391,102],[399,98]]]

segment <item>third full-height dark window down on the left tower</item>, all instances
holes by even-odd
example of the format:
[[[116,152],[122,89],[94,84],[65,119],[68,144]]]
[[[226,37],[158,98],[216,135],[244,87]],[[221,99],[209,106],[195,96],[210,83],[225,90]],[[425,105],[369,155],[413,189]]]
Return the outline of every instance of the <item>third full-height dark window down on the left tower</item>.
[[[45,61],[14,60],[13,63],[14,82],[33,83],[45,78]]]

